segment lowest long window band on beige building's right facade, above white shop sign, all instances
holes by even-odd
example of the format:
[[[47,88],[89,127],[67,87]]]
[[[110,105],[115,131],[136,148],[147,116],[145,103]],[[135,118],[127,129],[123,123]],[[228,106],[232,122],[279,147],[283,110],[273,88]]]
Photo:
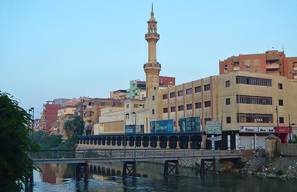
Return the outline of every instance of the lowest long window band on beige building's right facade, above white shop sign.
[[[272,114],[248,114],[238,113],[238,123],[273,123]]]

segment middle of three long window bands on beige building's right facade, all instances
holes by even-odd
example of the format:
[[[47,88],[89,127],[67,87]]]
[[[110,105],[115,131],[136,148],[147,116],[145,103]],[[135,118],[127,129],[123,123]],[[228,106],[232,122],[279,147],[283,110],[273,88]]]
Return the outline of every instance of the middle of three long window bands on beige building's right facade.
[[[237,95],[237,103],[245,104],[272,104],[272,97],[258,97],[258,96],[246,96],[246,95]]]

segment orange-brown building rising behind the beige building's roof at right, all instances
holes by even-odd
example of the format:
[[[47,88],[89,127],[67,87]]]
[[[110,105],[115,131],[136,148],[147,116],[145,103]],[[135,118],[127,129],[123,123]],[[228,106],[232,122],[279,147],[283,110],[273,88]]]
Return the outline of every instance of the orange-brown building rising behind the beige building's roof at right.
[[[228,57],[219,62],[220,75],[233,71],[265,73],[297,79],[297,57],[286,57],[284,51],[271,50],[260,54]]]

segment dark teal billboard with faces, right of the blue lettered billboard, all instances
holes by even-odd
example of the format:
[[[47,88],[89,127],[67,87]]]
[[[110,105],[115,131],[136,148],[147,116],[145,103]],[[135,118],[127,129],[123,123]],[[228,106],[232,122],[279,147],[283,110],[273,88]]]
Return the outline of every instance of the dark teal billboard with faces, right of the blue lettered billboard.
[[[181,133],[200,132],[200,117],[180,118],[179,127]]]

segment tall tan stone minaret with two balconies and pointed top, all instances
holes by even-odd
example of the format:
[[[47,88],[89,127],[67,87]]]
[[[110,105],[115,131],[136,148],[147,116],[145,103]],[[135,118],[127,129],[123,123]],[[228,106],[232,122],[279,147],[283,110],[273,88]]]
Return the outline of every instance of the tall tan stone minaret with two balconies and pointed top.
[[[143,69],[146,74],[146,99],[151,99],[149,97],[150,91],[159,88],[159,73],[161,71],[161,64],[157,62],[156,58],[156,44],[159,39],[160,35],[157,33],[157,21],[154,17],[152,4],[151,18],[147,22],[147,33],[145,34],[145,40],[149,43],[149,59],[147,63],[143,65]]]

